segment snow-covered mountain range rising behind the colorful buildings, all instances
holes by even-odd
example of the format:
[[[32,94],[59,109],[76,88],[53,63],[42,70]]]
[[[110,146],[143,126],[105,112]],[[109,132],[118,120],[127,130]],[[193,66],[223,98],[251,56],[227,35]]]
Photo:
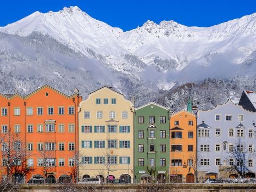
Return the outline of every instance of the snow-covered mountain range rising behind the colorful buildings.
[[[187,27],[175,21],[162,21],[160,24],[147,21],[137,29],[124,32],[93,19],[78,7],[70,7],[59,12],[35,12],[0,27],[0,32],[3,32],[0,43],[2,53],[9,54],[16,49],[18,54],[22,49],[26,59],[34,57],[24,52],[22,43],[15,47],[15,41],[26,42],[27,47],[42,52],[40,44],[31,47],[31,42],[43,39],[43,47],[51,52],[52,57],[43,58],[48,55],[41,53],[41,60],[60,64],[59,69],[72,67],[80,79],[90,72],[92,80],[97,81],[97,76],[100,76],[99,84],[112,84],[121,92],[127,92],[124,89],[131,86],[133,89],[136,87],[136,91],[140,88],[143,94],[153,94],[168,91],[175,84],[201,81],[208,77],[254,75],[256,70],[256,13],[212,27]],[[12,46],[9,39],[14,41]],[[54,57],[58,52],[62,58],[70,58],[62,49],[68,50],[66,52],[72,57],[79,55],[80,61],[72,63]],[[3,58],[6,59],[5,56]],[[2,68],[13,65],[12,61],[4,59],[0,60]],[[27,64],[39,72],[40,67],[33,66],[31,59],[23,63]],[[44,64],[41,62],[40,65]],[[66,72],[62,74],[62,70],[57,71],[54,67],[53,71],[58,78],[65,77]],[[48,71],[40,72],[44,74]],[[129,86],[124,82],[129,82]],[[77,83],[82,86],[81,81]]]

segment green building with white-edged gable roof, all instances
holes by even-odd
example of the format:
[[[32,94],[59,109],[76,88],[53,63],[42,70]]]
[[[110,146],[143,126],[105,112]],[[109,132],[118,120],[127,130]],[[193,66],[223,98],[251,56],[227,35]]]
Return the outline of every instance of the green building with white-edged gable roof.
[[[137,183],[164,183],[169,176],[169,109],[148,103],[135,109],[135,173]]]

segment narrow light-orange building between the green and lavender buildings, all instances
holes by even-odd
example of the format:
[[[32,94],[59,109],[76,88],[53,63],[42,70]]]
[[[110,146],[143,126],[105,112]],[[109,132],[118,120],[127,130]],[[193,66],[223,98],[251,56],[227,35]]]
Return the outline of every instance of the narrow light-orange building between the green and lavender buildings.
[[[170,181],[193,183],[196,168],[196,115],[182,110],[170,116]]]

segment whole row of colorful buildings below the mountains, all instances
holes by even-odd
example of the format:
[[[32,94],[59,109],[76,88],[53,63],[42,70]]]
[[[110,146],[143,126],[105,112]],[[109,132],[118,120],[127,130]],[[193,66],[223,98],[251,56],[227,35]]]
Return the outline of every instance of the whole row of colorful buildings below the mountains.
[[[25,97],[0,94],[1,176],[19,183],[96,177],[193,183],[240,177],[231,153],[239,148],[244,175],[255,178],[255,95],[244,91],[238,105],[229,100],[211,110],[188,101],[187,110],[170,114],[156,103],[135,108],[134,97],[109,87],[85,100],[77,89],[68,96],[47,85]],[[25,161],[7,157],[8,146]]]

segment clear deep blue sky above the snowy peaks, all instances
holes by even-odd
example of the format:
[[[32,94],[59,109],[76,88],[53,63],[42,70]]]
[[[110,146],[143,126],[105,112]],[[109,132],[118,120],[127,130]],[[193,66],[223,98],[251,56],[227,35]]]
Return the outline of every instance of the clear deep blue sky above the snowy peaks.
[[[256,12],[256,0],[0,0],[0,26],[37,10],[56,12],[70,5],[124,31],[147,20],[174,20],[186,26],[207,27]]]

